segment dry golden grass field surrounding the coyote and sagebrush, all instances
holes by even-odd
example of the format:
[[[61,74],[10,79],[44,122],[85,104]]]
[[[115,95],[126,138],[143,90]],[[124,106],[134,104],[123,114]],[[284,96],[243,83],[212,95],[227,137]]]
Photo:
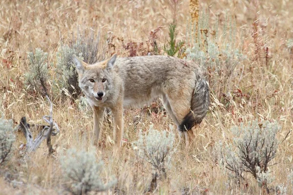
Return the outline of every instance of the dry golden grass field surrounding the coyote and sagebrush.
[[[101,39],[115,36],[112,42],[115,50],[112,47],[111,53],[116,52],[118,57],[129,56],[121,39],[125,44],[143,42],[143,49],[138,54],[146,55],[147,49],[151,50],[147,47],[150,32],[158,27],[156,41],[159,48],[167,43],[168,25],[173,21],[173,3],[173,0],[1,0],[0,112],[6,119],[13,119],[15,126],[23,116],[30,123],[43,123],[42,116],[49,112],[46,98],[28,92],[24,85],[27,52],[39,47],[49,54],[49,61],[55,62],[60,40],[70,39],[80,25],[81,29],[100,30]],[[270,167],[275,180],[270,187],[284,184],[287,194],[293,194],[293,186],[287,177],[293,169],[293,46],[290,46],[293,1],[199,0],[198,8],[209,10],[210,23],[219,16],[219,26],[226,13],[235,18],[237,32],[233,39],[247,59],[236,66],[232,79],[214,80],[216,85],[210,85],[209,112],[193,129],[192,147],[176,152],[172,157],[172,169],[167,173],[168,182],[159,182],[154,194],[177,195],[182,194],[184,188],[189,189],[189,194],[262,194],[262,189],[249,174],[245,175],[246,181],[240,188],[228,186],[227,170],[220,168],[212,153],[219,140],[231,142],[232,126],[255,118],[274,119],[281,125],[277,134],[280,145],[272,160],[275,165]],[[189,1],[178,0],[176,9],[177,39],[185,40],[187,21],[191,20]],[[190,44],[186,44],[188,46]],[[166,55],[162,49],[160,54]],[[53,69],[50,71],[53,73]],[[92,117],[79,111],[77,104],[69,98],[55,97],[52,101],[53,118],[61,130],[52,137],[56,152],[48,156],[44,141],[35,153],[23,159],[19,146],[25,143],[25,138],[18,132],[13,157],[0,168],[1,195],[68,194],[63,188],[66,181],[59,158],[68,148],[90,147]],[[153,107],[156,107],[155,103]],[[101,157],[105,162],[106,169],[102,174],[105,178],[116,176],[117,194],[143,194],[144,186],[151,180],[151,170],[148,165],[137,162],[131,142],[137,139],[139,129],[146,131],[150,124],[157,130],[169,130],[169,124],[174,127],[175,124],[160,109],[154,112],[152,106],[126,110],[124,119],[126,142],[121,152],[113,155],[112,126],[104,123],[96,149],[97,158]],[[19,184],[10,181],[13,179]],[[114,194],[114,190],[105,194]]]

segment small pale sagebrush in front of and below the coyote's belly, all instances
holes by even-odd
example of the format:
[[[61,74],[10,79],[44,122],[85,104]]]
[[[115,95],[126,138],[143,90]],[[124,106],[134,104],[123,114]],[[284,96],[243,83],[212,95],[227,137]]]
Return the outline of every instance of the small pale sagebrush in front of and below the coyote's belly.
[[[135,154],[151,164],[155,173],[167,178],[167,170],[171,167],[171,157],[175,152],[174,138],[173,133],[157,131],[151,125],[145,135],[140,130],[139,138],[132,146]]]

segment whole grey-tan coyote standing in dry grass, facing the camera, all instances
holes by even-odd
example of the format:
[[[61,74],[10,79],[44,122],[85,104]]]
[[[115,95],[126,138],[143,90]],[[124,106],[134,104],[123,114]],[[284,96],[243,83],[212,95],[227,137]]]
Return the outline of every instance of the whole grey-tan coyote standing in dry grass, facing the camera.
[[[160,97],[176,123],[180,140],[201,123],[209,108],[209,85],[197,64],[169,56],[111,58],[87,64],[73,55],[79,86],[93,108],[96,139],[105,108],[114,117],[114,142],[121,146],[123,110],[137,108]],[[186,143],[188,144],[188,143]]]

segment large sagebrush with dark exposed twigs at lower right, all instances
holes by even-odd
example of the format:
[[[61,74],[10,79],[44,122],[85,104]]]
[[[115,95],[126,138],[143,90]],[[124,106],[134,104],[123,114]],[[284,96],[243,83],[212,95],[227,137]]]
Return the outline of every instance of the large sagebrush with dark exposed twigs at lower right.
[[[277,152],[279,128],[276,122],[253,120],[231,129],[232,143],[219,143],[221,162],[237,181],[244,178],[243,172],[248,172],[264,187],[272,182],[268,167]]]

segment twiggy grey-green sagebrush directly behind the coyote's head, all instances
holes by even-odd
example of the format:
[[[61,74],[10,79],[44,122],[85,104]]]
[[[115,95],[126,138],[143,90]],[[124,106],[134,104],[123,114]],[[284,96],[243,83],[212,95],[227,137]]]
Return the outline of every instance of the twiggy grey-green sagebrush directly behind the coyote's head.
[[[70,44],[61,43],[56,53],[56,75],[54,79],[54,93],[68,92],[72,98],[78,98],[81,89],[78,86],[78,74],[72,61],[76,55],[88,64],[104,60],[106,58],[105,45],[100,44],[100,36],[94,36],[94,31],[86,36],[78,30],[76,39],[73,37]]]

